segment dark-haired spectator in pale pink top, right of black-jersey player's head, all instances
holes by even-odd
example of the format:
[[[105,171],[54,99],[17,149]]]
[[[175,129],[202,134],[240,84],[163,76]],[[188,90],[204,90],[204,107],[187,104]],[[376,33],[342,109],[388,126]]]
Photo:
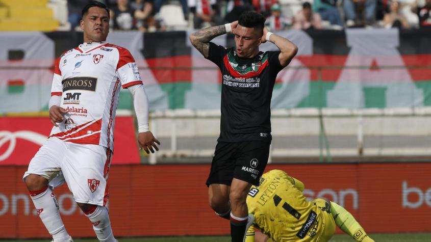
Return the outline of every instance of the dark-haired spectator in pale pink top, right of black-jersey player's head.
[[[293,18],[293,28],[297,30],[322,29],[322,18],[318,13],[313,12],[310,3],[303,3],[302,10],[299,10]]]

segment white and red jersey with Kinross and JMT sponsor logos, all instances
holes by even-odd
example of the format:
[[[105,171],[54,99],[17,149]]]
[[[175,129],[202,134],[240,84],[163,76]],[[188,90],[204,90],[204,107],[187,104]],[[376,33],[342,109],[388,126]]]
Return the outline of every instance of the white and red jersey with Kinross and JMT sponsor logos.
[[[114,150],[115,111],[120,87],[141,84],[129,50],[104,42],[84,43],[55,64],[51,95],[61,95],[68,114],[49,137]]]

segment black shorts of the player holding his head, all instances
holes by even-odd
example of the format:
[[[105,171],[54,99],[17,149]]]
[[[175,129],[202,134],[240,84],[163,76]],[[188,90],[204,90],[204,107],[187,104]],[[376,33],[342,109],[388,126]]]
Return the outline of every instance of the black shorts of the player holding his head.
[[[207,186],[213,183],[231,185],[233,178],[259,185],[268,156],[268,142],[218,142]]]

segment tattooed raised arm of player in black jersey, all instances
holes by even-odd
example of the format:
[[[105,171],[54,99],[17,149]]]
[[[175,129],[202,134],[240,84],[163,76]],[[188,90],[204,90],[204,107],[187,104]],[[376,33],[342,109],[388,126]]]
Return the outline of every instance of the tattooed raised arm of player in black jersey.
[[[210,41],[222,34],[226,34],[226,28],[224,25],[213,26],[191,34],[190,42],[202,55],[204,55],[205,58],[208,58]]]

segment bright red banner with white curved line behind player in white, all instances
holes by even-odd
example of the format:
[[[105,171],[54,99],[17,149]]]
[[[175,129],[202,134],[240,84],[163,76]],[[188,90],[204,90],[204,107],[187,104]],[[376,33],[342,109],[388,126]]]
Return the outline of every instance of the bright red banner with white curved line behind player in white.
[[[47,117],[0,117],[0,166],[28,165],[52,128]],[[140,163],[132,117],[115,118],[114,138],[113,164]]]

